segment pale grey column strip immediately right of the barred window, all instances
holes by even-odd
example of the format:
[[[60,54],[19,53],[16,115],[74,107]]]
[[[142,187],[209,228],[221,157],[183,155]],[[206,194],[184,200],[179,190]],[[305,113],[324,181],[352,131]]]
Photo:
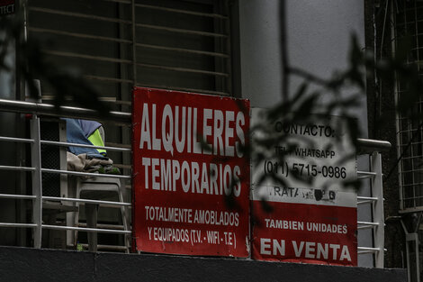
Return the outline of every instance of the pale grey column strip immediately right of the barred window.
[[[241,93],[251,106],[280,101],[282,60],[279,1],[239,1]]]

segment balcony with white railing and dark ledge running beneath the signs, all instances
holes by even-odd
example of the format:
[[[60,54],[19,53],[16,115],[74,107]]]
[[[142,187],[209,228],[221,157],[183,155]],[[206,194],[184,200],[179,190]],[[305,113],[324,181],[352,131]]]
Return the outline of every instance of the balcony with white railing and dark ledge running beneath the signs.
[[[130,216],[127,216],[123,219],[123,221],[127,221],[127,223],[122,223],[122,220],[119,219],[117,221],[104,221],[97,223],[95,220],[94,227],[93,223],[90,223],[89,215],[85,216],[85,223],[78,222],[77,224],[73,224],[74,222],[69,222],[69,215],[75,214],[82,206],[89,207],[90,205],[94,209],[97,209],[98,206],[102,206],[105,208],[112,208],[114,210],[121,210],[121,214],[126,213],[130,214],[130,170],[123,169],[125,172],[123,175],[101,175],[101,177],[108,177],[112,179],[118,179],[121,181],[124,188],[127,191],[127,196],[123,199],[122,197],[119,200],[99,200],[99,199],[88,199],[88,198],[81,198],[75,195],[72,195],[69,190],[69,179],[73,177],[92,177],[93,174],[91,173],[83,173],[83,172],[75,172],[75,171],[68,171],[66,167],[63,165],[59,166],[59,168],[44,168],[41,165],[41,159],[43,155],[41,153],[41,146],[49,146],[53,148],[58,148],[58,156],[66,150],[67,146],[80,146],[84,147],[86,145],[80,144],[70,144],[66,141],[48,141],[44,140],[40,137],[40,132],[43,131],[42,125],[40,125],[40,119],[45,120],[49,117],[49,120],[53,120],[57,126],[60,126],[60,120],[58,120],[58,114],[55,114],[54,108],[52,105],[44,105],[44,104],[33,104],[33,103],[25,103],[25,102],[18,102],[18,101],[10,101],[10,100],[0,100],[0,112],[10,112],[10,113],[17,113],[17,116],[21,120],[25,120],[29,123],[31,129],[31,136],[29,138],[20,138],[16,136],[0,136],[0,141],[2,142],[9,142],[9,143],[16,143],[22,144],[19,146],[26,146],[30,151],[29,154],[31,155],[31,162],[24,162],[24,161],[16,161],[16,163],[20,163],[21,165],[4,165],[0,164],[0,170],[3,171],[15,171],[22,175],[25,175],[30,183],[29,186],[31,188],[28,190],[29,193],[27,194],[18,194],[18,193],[2,193],[0,194],[0,198],[7,199],[10,201],[16,201],[16,203],[20,203],[17,206],[20,206],[24,210],[28,209],[26,213],[28,216],[26,219],[27,222],[15,220],[14,222],[4,222],[0,223],[0,227],[2,229],[13,229],[13,230],[24,230],[23,232],[17,232],[21,234],[21,236],[26,236],[26,244],[19,244],[16,243],[17,246],[23,247],[33,247],[35,249],[51,249],[51,248],[58,248],[58,249],[67,249],[67,250],[108,250],[108,251],[124,251],[130,252]],[[29,113],[31,116],[23,117],[23,113]],[[80,108],[71,108],[71,107],[62,107],[62,112],[60,117],[75,117],[75,118],[85,118],[85,119],[94,119],[95,113],[90,110],[80,109]],[[41,118],[40,118],[41,117]],[[51,119],[52,118],[52,119]],[[130,124],[130,114],[127,113],[111,113],[108,121],[112,121],[113,123],[119,124]],[[60,130],[59,130],[60,131]],[[373,259],[374,260],[374,267],[375,268],[383,268],[383,188],[382,188],[382,160],[381,154],[379,153],[380,150],[386,150],[390,147],[388,142],[384,141],[371,141],[371,140],[359,140],[359,153],[358,155],[362,156],[363,158],[369,159],[369,167],[366,168],[359,168],[357,171],[357,175],[359,178],[362,178],[364,181],[364,185],[368,186],[369,189],[365,192],[365,196],[358,196],[357,197],[357,205],[359,209],[362,209],[366,215],[364,219],[360,219],[357,223],[358,226],[358,241],[359,243],[362,241],[360,240],[360,236],[367,236],[369,237],[369,232],[371,232],[370,237],[373,238],[372,241],[367,241],[367,244],[361,245],[358,247],[358,254],[359,254],[359,261],[360,258]],[[121,154],[130,154],[130,149],[122,148],[122,147],[111,147],[106,146],[106,150],[110,151],[117,151]],[[28,165],[30,163],[30,165]],[[364,163],[367,163],[366,161]],[[42,177],[43,175],[58,175],[59,177],[59,195],[58,196],[46,196],[43,187]],[[26,204],[22,204],[26,203]],[[49,216],[49,213],[54,214],[53,217]],[[362,212],[363,214],[363,212]],[[107,216],[107,214],[106,214]],[[21,216],[21,219],[23,217]],[[55,235],[55,232],[58,232],[60,235]],[[90,243],[79,242],[75,241],[75,234],[76,232],[86,232],[88,235],[88,241]],[[99,244],[96,241],[96,235],[93,236],[91,234],[109,234],[115,237],[114,239],[109,241],[114,241],[113,244]],[[56,237],[55,237],[56,236]],[[118,236],[118,237],[116,237]],[[120,237],[119,237],[120,236]],[[48,239],[46,239],[46,237]],[[55,239],[64,239],[64,242],[60,242],[58,246],[55,246]],[[91,238],[91,239],[90,239]],[[73,239],[73,240],[71,240]],[[94,240],[94,241],[93,241]],[[119,244],[120,243],[120,244]],[[14,253],[14,248],[5,248],[4,251],[9,251]],[[21,250],[21,249],[19,249]],[[40,254],[38,250],[22,250],[23,253],[30,252],[29,257],[35,254]],[[41,250],[40,250],[41,251]],[[44,252],[43,252],[44,253]],[[52,257],[54,256],[66,256],[67,252],[63,251],[52,251],[49,250],[45,252],[46,254],[51,254]],[[72,252],[75,254],[75,252]],[[84,252],[85,253],[85,252]],[[84,255],[81,254],[81,258],[93,258],[92,253],[85,253]],[[19,256],[19,254],[14,254],[14,256]],[[121,257],[116,257],[116,254],[101,254],[101,255],[94,255],[94,261],[96,259],[105,259],[101,263],[105,266],[108,259],[122,259]],[[369,257],[370,256],[370,257]],[[146,263],[144,260],[148,260],[149,263],[153,265],[155,263],[161,264],[165,261],[179,261],[180,263],[184,264],[184,267],[191,266],[198,264],[201,266],[202,264],[205,265],[214,265],[216,268],[221,268],[224,265],[232,265],[235,269],[234,271],[241,271],[241,272],[248,272],[248,265],[254,264],[258,268],[269,268],[270,265],[274,265],[272,263],[266,262],[258,262],[258,261],[251,261],[250,259],[247,260],[239,260],[239,259],[192,259],[187,257],[174,257],[169,256],[155,256],[155,255],[141,255],[136,259],[133,256],[128,257],[129,264],[133,263]],[[88,259],[89,260],[89,259]],[[127,260],[127,259],[123,259]],[[178,262],[178,263],[179,263]],[[95,262],[94,262],[95,263]],[[285,268],[287,264],[280,264],[277,268]],[[115,267],[118,267],[116,265]],[[128,265],[125,265],[127,268]],[[156,266],[157,267],[157,266]],[[299,271],[301,273],[301,268],[311,269],[311,272],[315,271],[315,269],[319,268],[318,266],[292,266],[286,267],[291,268],[293,272]],[[274,273],[276,270],[272,268],[269,270],[269,273]],[[314,269],[314,270],[313,270]],[[325,268],[326,269],[326,268]],[[328,269],[336,269],[336,268],[328,268]],[[344,268],[342,268],[344,269]],[[352,268],[347,268],[346,273],[350,272],[353,273],[355,270],[351,270]],[[170,270],[169,270],[170,271]],[[285,271],[285,270],[283,270]],[[324,270],[327,271],[327,270]],[[323,272],[324,272],[323,271]],[[329,271],[329,270],[328,270]],[[332,270],[330,270],[332,271]],[[329,271],[329,272],[330,272]],[[195,272],[195,271],[193,271]],[[296,275],[299,275],[297,273]],[[375,272],[376,273],[376,272]],[[383,274],[383,272],[381,272]],[[396,273],[401,277],[402,272]],[[372,274],[374,275],[374,274]],[[251,277],[254,277],[252,275]],[[295,277],[295,275],[293,275]],[[370,280],[369,280],[370,281]],[[387,280],[389,281],[389,280]],[[393,280],[392,280],[393,281]]]

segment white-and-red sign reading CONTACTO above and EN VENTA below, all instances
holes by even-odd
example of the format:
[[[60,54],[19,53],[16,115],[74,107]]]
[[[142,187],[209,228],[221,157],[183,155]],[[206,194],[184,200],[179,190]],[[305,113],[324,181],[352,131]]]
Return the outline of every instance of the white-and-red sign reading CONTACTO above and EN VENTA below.
[[[259,111],[253,109],[253,123]],[[356,159],[342,124],[313,117],[270,125],[284,142],[252,161],[253,259],[356,266],[356,190],[343,186],[356,179]]]

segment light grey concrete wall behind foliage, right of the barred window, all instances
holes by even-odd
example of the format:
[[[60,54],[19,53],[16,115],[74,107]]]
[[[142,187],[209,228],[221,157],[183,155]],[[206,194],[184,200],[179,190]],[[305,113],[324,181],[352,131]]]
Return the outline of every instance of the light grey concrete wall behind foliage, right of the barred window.
[[[271,107],[282,98],[281,1],[239,0],[239,45],[241,94],[256,107]],[[289,63],[318,77],[329,78],[348,66],[348,52],[353,33],[365,46],[365,11],[362,1],[289,0],[286,3]],[[291,93],[302,82],[292,77]],[[355,89],[344,90],[343,95]],[[351,114],[367,137],[365,94],[362,106]],[[357,160],[360,170],[368,169],[368,159]],[[366,183],[359,191],[370,196]],[[371,220],[370,206],[358,210],[360,221]],[[359,246],[372,246],[372,232],[360,231]],[[359,266],[372,267],[372,255],[359,256]]]

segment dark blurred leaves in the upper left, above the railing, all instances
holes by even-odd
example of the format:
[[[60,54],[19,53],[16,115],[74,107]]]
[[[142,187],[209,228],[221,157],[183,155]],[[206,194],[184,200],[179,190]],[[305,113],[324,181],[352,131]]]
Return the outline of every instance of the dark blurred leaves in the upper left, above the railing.
[[[93,109],[102,116],[110,112],[94,90],[75,68],[60,66],[45,58],[41,48],[43,43],[34,38],[26,39],[23,14],[0,17],[0,71],[13,71],[6,56],[15,50],[16,75],[28,86],[29,95],[37,98],[35,79],[49,85],[53,91],[53,104],[59,112],[60,105],[67,105],[70,97],[74,105]],[[14,48],[15,47],[15,48]]]

